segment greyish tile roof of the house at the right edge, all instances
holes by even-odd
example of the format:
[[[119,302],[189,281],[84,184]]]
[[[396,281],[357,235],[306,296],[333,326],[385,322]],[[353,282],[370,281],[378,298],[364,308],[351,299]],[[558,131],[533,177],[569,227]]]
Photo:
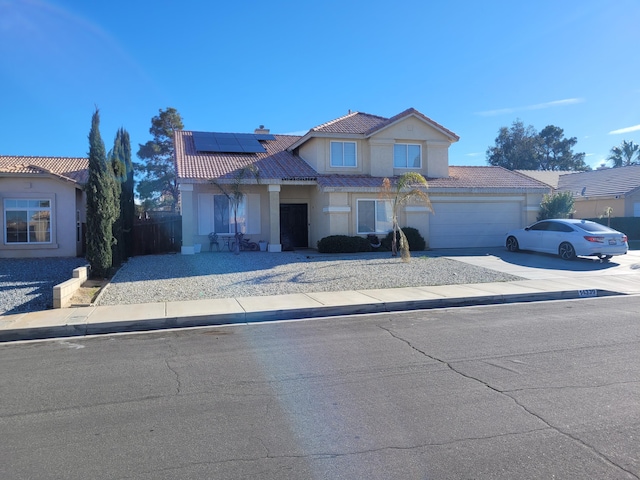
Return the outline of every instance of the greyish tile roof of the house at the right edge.
[[[638,188],[640,188],[640,165],[563,175],[558,183],[559,191],[573,192],[577,198],[626,195]]]

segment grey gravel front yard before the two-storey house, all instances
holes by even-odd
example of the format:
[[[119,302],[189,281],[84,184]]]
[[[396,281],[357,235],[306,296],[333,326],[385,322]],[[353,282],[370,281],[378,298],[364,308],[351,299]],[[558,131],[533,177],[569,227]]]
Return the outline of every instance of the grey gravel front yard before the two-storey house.
[[[203,252],[131,258],[97,305],[199,300],[289,293],[367,290],[521,280],[415,252],[409,263],[388,252]]]

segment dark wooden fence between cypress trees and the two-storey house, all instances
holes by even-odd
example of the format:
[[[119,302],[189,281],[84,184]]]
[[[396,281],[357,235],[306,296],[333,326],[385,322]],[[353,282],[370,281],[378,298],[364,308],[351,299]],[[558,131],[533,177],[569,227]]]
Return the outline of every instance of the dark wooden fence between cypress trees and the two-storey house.
[[[182,217],[171,215],[139,219],[133,224],[133,255],[179,252],[182,246]]]

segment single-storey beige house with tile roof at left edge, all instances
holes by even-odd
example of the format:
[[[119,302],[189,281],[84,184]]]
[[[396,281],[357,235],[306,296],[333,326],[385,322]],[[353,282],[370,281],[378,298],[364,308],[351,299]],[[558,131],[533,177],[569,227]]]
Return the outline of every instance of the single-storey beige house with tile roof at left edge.
[[[83,254],[86,158],[0,155],[0,258]]]

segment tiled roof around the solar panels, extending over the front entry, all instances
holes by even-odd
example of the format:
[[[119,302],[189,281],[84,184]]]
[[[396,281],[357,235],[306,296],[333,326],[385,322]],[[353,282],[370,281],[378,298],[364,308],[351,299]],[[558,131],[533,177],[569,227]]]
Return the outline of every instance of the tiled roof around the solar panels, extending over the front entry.
[[[287,151],[300,137],[274,136],[275,140],[262,142],[266,153],[205,153],[196,150],[192,132],[178,130],[174,135],[178,178],[196,181],[232,178],[232,172],[253,163],[262,179],[315,179],[316,171]]]

